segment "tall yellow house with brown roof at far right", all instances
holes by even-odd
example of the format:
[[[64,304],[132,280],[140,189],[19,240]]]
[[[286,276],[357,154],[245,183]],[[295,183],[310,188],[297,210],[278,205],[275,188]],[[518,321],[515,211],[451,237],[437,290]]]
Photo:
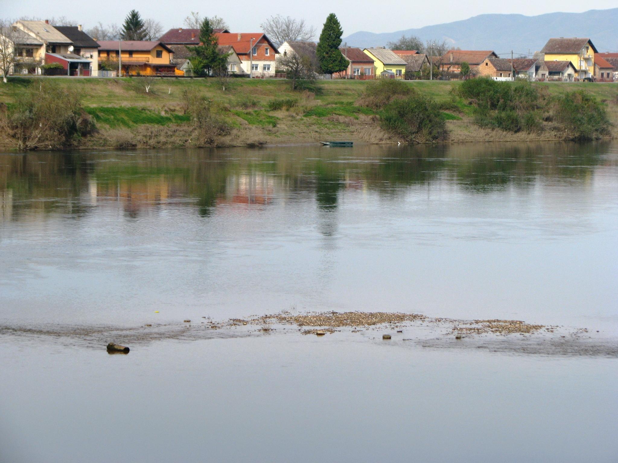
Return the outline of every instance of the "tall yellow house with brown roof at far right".
[[[579,78],[592,77],[595,73],[595,53],[598,53],[588,38],[551,38],[541,50],[545,61],[570,61]]]

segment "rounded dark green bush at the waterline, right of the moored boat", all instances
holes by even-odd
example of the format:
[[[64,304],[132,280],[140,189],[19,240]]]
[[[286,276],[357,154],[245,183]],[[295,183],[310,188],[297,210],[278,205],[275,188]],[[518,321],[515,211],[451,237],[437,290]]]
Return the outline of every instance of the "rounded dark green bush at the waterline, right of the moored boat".
[[[390,102],[384,107],[380,124],[407,142],[439,141],[447,135],[439,106],[432,98],[418,94]]]

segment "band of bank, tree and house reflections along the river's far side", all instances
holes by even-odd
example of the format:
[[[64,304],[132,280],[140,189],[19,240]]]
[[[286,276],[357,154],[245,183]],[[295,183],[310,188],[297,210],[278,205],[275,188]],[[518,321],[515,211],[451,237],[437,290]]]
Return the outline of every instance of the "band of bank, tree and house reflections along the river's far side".
[[[169,204],[208,217],[310,196],[329,235],[328,211],[344,191],[397,198],[445,182],[473,193],[530,188],[539,178],[586,183],[594,167],[615,167],[607,152],[607,143],[544,143],[0,154],[0,220],[79,218],[109,201],[133,219]]]

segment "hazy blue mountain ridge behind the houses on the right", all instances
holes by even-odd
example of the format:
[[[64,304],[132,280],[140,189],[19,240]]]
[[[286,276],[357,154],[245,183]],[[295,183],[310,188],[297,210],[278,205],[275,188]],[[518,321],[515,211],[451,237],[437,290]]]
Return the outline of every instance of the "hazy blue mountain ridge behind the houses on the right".
[[[343,40],[349,46],[386,46],[402,35],[422,40],[447,40],[461,49],[494,50],[497,54],[527,54],[543,48],[551,37],[589,37],[599,51],[618,51],[618,8],[583,13],[481,14],[420,29],[376,34],[355,32]]]

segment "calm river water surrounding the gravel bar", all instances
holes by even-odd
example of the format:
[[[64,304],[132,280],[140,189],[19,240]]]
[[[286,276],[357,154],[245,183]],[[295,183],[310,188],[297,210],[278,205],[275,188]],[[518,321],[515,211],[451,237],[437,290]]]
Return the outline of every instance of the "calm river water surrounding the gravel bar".
[[[0,154],[4,327],[294,306],[611,338],[616,243],[618,144]],[[618,461],[616,359],[0,335],[0,365],[2,462]]]

